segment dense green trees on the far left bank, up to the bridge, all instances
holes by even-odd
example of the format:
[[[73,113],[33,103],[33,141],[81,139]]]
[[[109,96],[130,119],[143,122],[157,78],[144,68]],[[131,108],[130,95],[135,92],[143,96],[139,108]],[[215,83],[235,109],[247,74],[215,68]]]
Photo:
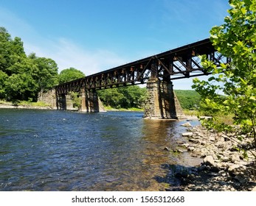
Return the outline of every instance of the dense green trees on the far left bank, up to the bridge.
[[[75,68],[58,74],[54,60],[25,54],[21,38],[11,38],[7,29],[0,27],[0,99],[36,102],[43,93],[59,83],[84,77]]]

